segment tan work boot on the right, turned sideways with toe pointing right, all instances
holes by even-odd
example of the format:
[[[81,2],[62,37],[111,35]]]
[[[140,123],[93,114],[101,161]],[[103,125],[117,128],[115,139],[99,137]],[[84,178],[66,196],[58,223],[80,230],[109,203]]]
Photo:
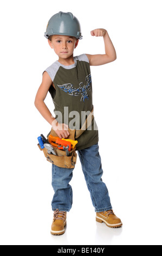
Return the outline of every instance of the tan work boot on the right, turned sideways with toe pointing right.
[[[105,222],[109,228],[119,228],[122,226],[120,218],[116,217],[113,210],[102,211],[96,213],[97,222]]]

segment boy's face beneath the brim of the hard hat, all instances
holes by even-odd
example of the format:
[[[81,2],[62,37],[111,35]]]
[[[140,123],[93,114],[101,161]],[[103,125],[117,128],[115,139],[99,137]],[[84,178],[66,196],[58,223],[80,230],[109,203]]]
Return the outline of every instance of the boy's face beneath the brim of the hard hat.
[[[73,36],[53,35],[51,41],[48,39],[49,46],[54,49],[59,58],[67,59],[73,56],[74,49],[78,41]]]

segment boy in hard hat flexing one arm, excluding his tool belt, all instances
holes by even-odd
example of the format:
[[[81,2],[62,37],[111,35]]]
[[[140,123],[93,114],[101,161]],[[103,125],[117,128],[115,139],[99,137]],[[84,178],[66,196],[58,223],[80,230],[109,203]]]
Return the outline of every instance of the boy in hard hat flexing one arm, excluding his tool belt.
[[[72,119],[67,121],[67,115],[72,118],[78,113],[79,118],[76,118],[75,126],[77,129],[81,129],[84,123],[84,121],[82,123],[82,113],[92,112],[90,65],[103,65],[116,59],[114,46],[105,29],[95,29],[91,35],[103,36],[105,54],[73,56],[74,49],[82,39],[82,35],[80,23],[72,13],[60,11],[51,17],[44,34],[48,39],[49,46],[53,48],[59,59],[44,71],[42,84],[36,95],[35,106],[52,126],[56,136],[61,139],[68,138],[70,129],[74,129],[74,121]],[[55,105],[55,114],[61,113],[62,120],[54,118],[44,103],[48,92],[50,92]],[[65,107],[68,112],[65,111]],[[99,155],[98,130],[94,119],[90,128],[83,131],[77,138],[76,150],[95,208],[96,221],[105,222],[111,228],[121,227],[121,220],[115,216],[112,210],[107,187],[101,179],[103,170]],[[65,232],[66,213],[72,208],[73,194],[69,182],[73,176],[73,168],[61,168],[53,164],[52,171],[52,185],[55,194],[51,203],[54,211],[51,234],[61,235]]]

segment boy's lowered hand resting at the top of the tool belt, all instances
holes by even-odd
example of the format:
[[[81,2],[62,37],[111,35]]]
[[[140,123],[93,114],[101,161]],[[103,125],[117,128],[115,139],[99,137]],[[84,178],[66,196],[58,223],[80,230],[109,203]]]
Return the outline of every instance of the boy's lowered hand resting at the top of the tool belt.
[[[59,124],[57,120],[55,119],[52,123],[52,127],[54,131],[56,132],[57,136],[59,136],[60,139],[68,138],[70,133],[69,133],[69,127],[66,124]]]

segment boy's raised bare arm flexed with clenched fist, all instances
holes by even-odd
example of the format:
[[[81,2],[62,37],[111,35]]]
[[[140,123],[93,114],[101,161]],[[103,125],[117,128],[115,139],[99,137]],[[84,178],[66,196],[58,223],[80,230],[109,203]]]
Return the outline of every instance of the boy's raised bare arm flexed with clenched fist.
[[[91,66],[100,66],[113,62],[116,59],[116,51],[106,29],[98,28],[90,32],[92,36],[103,36],[105,54],[87,54]]]

